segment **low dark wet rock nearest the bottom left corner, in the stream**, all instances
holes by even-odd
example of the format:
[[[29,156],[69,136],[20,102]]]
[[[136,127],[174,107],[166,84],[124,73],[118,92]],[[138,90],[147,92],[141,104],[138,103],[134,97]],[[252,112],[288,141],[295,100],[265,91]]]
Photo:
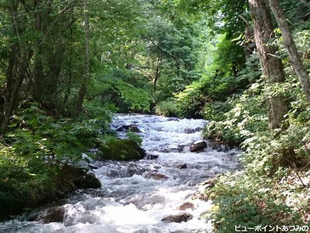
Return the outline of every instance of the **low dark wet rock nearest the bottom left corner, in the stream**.
[[[30,212],[27,221],[38,221],[42,223],[63,222],[65,211],[61,207],[50,207],[40,212]]]

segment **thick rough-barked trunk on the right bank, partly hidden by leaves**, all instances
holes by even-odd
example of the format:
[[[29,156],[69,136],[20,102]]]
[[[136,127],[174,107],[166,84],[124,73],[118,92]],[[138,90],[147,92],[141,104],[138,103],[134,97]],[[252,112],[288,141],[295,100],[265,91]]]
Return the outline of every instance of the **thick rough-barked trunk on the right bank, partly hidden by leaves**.
[[[267,0],[249,0],[249,5],[263,75],[269,84],[283,82],[283,65],[281,60],[274,55],[276,48],[267,46],[268,41],[274,37]],[[287,104],[284,97],[267,97],[267,108],[268,127],[271,129],[280,127],[280,123],[287,113]]]

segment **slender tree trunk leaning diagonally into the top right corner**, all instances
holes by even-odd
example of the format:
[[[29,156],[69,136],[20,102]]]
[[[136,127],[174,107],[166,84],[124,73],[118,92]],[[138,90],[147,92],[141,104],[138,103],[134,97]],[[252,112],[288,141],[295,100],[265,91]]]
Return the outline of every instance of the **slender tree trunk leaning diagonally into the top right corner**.
[[[268,0],[270,8],[274,14],[274,17],[279,25],[282,33],[282,37],[284,40],[284,44],[288,50],[289,56],[291,58],[291,63],[293,65],[294,71],[299,79],[301,88],[309,102],[310,105],[310,81],[309,76],[302,64],[300,59],[300,55],[294,43],[292,34],[290,32],[290,28],[288,22],[285,18],[285,14],[281,9],[280,4],[277,0]]]

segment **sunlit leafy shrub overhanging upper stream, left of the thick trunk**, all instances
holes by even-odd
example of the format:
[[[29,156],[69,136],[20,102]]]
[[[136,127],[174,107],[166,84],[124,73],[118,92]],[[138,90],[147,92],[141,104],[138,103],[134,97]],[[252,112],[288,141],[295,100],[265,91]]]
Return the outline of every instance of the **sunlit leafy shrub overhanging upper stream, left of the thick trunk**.
[[[260,79],[245,90],[242,95],[227,98],[225,104],[219,106],[216,102],[207,105],[207,113],[211,112],[214,118],[224,120],[211,121],[204,129],[203,136],[207,139],[240,144],[257,132],[266,130],[267,110],[262,87],[263,82]],[[213,106],[219,107],[212,109]],[[225,110],[228,111],[225,112]]]

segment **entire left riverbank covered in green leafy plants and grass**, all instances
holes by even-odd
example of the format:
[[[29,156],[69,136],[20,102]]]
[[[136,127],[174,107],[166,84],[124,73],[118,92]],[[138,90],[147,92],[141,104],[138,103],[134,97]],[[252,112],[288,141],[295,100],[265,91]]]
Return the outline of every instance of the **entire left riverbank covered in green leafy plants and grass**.
[[[91,157],[89,149],[99,147],[109,134],[110,112],[95,110],[75,119],[56,118],[38,103],[29,103],[17,112],[0,138],[2,218],[79,187],[85,174],[75,166],[83,154]]]

